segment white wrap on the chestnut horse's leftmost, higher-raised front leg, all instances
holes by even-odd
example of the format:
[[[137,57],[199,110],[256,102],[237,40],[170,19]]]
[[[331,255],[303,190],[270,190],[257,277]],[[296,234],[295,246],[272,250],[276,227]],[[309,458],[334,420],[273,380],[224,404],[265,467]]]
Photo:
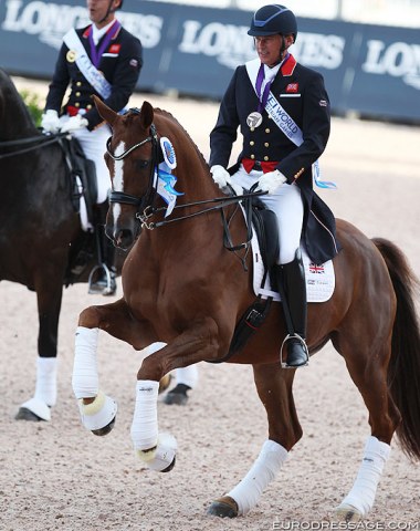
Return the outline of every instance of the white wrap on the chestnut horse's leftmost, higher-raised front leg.
[[[96,365],[99,329],[77,326],[73,365],[73,392],[76,398],[93,398],[98,394]]]

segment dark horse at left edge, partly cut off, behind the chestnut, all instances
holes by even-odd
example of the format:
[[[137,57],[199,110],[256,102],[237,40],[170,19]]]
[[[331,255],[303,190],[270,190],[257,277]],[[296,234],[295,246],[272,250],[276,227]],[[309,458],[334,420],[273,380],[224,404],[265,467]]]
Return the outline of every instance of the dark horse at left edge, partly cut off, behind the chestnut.
[[[14,84],[1,70],[0,177],[0,280],[19,282],[36,292],[38,367],[43,367],[43,382],[38,371],[34,396],[22,405],[18,418],[49,420],[56,393],[63,285],[87,282],[96,257],[76,275],[67,270],[74,250],[91,237],[82,231],[72,205],[63,150],[56,138],[49,140],[35,127]],[[122,263],[125,253],[119,254]]]

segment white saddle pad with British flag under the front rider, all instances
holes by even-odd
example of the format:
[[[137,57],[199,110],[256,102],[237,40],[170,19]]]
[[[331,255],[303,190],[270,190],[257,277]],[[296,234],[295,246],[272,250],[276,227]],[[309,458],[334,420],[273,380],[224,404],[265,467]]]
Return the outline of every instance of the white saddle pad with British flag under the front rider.
[[[266,277],[264,287],[261,287],[261,282],[264,277],[264,264],[262,261],[260,244],[255,231],[253,231],[251,246],[254,261],[253,287],[255,295],[261,294],[263,299],[272,296],[274,301],[280,301],[280,294],[271,289],[269,275]],[[328,262],[319,266],[309,260],[309,257],[307,256],[304,247],[301,247],[301,251],[303,263],[305,267],[307,302],[327,301],[332,298],[335,287],[333,261],[328,260]]]

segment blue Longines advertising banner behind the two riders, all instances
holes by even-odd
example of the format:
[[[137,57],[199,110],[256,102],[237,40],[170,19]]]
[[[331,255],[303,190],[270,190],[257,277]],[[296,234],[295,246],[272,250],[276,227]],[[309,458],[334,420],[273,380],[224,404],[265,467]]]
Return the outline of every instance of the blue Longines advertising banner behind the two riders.
[[[50,79],[64,33],[88,24],[84,0],[0,0],[0,66]],[[238,64],[253,59],[252,13],[125,0],[124,27],[144,46],[138,91],[220,98]],[[300,19],[292,53],[323,73],[333,111],[420,121],[418,30]]]

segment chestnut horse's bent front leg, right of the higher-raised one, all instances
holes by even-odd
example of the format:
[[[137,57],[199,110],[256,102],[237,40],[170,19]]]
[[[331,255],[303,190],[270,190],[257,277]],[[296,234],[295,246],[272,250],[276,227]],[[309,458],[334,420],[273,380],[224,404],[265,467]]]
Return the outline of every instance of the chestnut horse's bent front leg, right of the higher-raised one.
[[[177,441],[170,434],[158,430],[157,398],[160,378],[175,368],[186,367],[219,353],[218,326],[212,319],[192,323],[191,329],[169,345],[147,356],[137,374],[136,407],[132,439],[138,457],[157,471],[174,468]]]

